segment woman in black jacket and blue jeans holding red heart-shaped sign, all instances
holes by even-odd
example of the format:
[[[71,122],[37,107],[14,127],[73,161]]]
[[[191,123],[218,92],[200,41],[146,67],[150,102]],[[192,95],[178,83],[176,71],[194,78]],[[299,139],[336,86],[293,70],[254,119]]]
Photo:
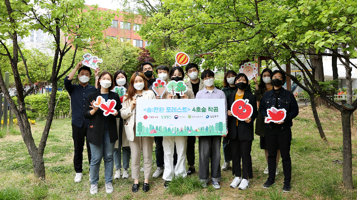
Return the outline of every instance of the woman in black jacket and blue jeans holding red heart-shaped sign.
[[[88,95],[84,110],[84,117],[90,119],[87,140],[90,142],[92,150],[91,194],[98,193],[99,169],[102,158],[104,159],[106,192],[113,192],[113,152],[115,141],[118,140],[116,118],[120,117],[119,110],[122,108],[118,94],[110,91],[114,88],[114,80],[109,72],[102,72],[99,76],[98,88],[100,90]],[[96,102],[98,96],[102,96],[105,101],[108,101],[108,99],[116,101],[114,113],[105,116],[104,111],[95,106],[98,105],[98,102]]]

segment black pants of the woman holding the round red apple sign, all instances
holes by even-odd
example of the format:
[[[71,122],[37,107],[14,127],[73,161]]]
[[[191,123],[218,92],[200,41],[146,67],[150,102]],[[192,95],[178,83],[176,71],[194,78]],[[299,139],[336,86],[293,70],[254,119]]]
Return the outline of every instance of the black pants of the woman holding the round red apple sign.
[[[235,139],[229,140],[232,154],[232,174],[239,177],[242,172],[242,178],[253,177],[253,168],[251,162],[251,144],[253,141],[240,141],[238,135]],[[242,158],[242,170],[240,170],[240,158]]]

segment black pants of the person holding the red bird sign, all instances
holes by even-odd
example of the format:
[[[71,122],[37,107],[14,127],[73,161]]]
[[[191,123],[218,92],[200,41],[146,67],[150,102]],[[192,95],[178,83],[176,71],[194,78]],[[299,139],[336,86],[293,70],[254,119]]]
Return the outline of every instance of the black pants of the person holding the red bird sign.
[[[273,126],[274,127],[274,126]],[[291,128],[281,130],[279,127],[269,129],[265,128],[265,140],[268,150],[268,168],[269,177],[275,180],[275,171],[277,167],[278,146],[280,147],[280,155],[283,162],[284,180],[291,181]]]

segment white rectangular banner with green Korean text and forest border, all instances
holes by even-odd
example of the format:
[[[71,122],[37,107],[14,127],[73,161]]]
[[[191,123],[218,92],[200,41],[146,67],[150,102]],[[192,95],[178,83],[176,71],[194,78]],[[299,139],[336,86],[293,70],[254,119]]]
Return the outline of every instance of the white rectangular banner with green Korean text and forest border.
[[[137,99],[136,136],[226,133],[224,99]]]

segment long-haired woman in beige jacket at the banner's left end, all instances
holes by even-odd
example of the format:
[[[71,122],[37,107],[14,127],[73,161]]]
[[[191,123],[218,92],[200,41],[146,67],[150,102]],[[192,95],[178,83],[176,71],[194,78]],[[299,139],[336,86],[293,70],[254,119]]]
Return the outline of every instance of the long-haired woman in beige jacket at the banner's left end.
[[[137,99],[155,99],[154,92],[147,89],[146,78],[142,73],[134,73],[131,76],[129,89],[123,99],[123,107],[120,110],[123,119],[126,119],[124,124],[125,133],[129,140],[131,149],[131,177],[134,179],[132,187],[133,192],[139,190],[140,176],[140,156],[141,151],[144,162],[144,183],[143,190],[149,191],[149,177],[152,167],[152,144],[153,137],[136,137],[135,136],[135,121],[136,121],[136,100]]]

